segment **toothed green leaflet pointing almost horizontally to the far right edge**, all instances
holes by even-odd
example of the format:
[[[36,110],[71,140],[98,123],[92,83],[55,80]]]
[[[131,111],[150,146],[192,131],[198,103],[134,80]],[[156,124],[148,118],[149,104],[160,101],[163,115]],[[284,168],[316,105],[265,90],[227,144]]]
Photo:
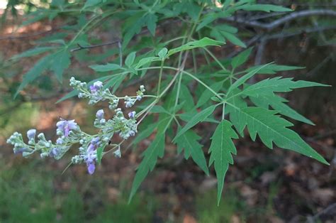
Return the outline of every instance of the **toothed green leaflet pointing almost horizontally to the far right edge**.
[[[274,92],[291,92],[292,89],[301,87],[327,87],[329,85],[323,85],[316,82],[308,82],[303,80],[298,80],[296,82],[292,81],[293,78],[281,78],[274,77],[271,79],[265,79],[260,82],[255,83],[246,87],[242,94],[258,97],[259,95],[274,95]]]

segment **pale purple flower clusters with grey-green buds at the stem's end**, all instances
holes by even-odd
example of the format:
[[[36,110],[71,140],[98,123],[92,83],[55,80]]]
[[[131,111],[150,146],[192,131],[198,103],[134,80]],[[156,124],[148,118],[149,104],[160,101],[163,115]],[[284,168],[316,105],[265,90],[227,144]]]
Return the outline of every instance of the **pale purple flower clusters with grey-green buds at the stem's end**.
[[[79,144],[79,153],[72,157],[72,163],[86,163],[89,174],[93,174],[96,169],[98,148],[111,145],[114,149],[113,154],[118,158],[121,157],[121,143],[111,144],[113,134],[119,134],[123,140],[126,140],[130,136],[135,136],[138,132],[136,112],[129,112],[128,118],[126,118],[122,109],[118,108],[118,102],[119,99],[124,99],[125,107],[133,107],[136,101],[142,99],[145,87],[141,85],[136,96],[116,97],[116,95],[111,94],[108,88],[103,89],[103,83],[100,81],[96,81],[88,87],[86,82],[80,82],[71,77],[70,86],[77,89],[79,98],[88,98],[89,104],[108,100],[109,109],[114,109],[111,119],[104,118],[103,109],[96,112],[94,126],[100,129],[98,134],[86,134],[74,120],[60,119],[56,124],[56,134],[58,136],[56,143],[47,140],[43,133],[38,134],[38,140],[36,141],[36,129],[27,131],[28,143],[23,141],[22,134],[18,132],[13,133],[7,143],[14,146],[14,153],[22,153],[24,157],[38,152],[41,158],[49,156],[57,160],[62,158],[74,144]]]

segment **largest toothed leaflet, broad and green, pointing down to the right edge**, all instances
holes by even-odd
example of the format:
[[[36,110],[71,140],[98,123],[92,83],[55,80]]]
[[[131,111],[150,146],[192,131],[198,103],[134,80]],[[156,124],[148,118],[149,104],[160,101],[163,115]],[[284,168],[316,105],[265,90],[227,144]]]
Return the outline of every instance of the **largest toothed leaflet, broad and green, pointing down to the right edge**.
[[[228,104],[228,107],[231,111],[230,121],[240,134],[247,126],[253,141],[258,134],[262,142],[269,148],[273,148],[273,143],[275,143],[280,148],[286,148],[328,164],[295,131],[287,128],[293,124],[276,115],[278,112],[259,107],[240,108],[234,104]]]

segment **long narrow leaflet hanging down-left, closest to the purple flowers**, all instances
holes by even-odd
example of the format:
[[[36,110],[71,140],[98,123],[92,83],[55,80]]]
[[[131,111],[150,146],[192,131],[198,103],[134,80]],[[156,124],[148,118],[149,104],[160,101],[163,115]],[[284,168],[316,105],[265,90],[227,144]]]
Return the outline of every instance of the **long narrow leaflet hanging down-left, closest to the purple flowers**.
[[[157,163],[157,158],[162,158],[164,156],[164,134],[158,134],[155,140],[150,144],[150,146],[143,153],[143,159],[138,166],[137,173],[133,180],[132,189],[130,191],[130,197],[128,202],[132,200],[135,192],[140,187],[140,184],[145,179],[147,174],[152,171]]]

